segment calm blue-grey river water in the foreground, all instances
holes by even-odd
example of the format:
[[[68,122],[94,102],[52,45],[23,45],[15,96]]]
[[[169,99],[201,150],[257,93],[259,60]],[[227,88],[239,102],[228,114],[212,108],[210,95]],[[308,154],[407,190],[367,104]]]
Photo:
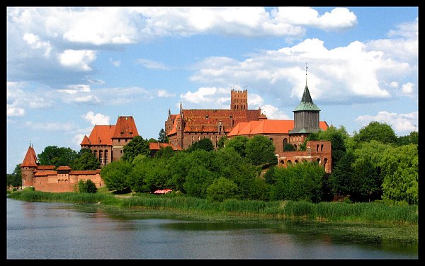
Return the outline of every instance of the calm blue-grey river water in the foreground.
[[[7,259],[417,259],[317,223],[197,221],[96,204],[6,199]]]

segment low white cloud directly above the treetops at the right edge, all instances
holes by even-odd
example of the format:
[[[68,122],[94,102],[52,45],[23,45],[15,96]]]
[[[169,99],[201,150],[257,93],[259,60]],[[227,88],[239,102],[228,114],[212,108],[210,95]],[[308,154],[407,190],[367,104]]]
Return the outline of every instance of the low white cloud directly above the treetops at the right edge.
[[[390,125],[398,136],[404,136],[412,131],[417,131],[419,112],[409,112],[407,114],[399,114],[395,112],[380,111],[377,115],[360,115],[356,118],[356,122],[361,127],[369,125],[372,121],[377,121]]]

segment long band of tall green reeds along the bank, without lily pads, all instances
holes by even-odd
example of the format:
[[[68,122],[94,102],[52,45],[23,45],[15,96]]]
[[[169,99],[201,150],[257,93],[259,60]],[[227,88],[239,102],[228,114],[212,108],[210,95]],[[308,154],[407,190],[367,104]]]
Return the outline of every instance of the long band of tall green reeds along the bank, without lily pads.
[[[304,219],[310,221],[370,222],[397,225],[417,225],[419,222],[418,205],[395,206],[382,202],[319,202],[315,204],[290,200],[263,202],[239,199],[211,202],[208,199],[175,194],[137,194],[129,197],[116,197],[102,193],[50,193],[39,191],[13,192],[8,194],[7,197],[28,202],[101,203],[115,204],[128,208],[174,209],[203,214],[268,216],[279,219]]]

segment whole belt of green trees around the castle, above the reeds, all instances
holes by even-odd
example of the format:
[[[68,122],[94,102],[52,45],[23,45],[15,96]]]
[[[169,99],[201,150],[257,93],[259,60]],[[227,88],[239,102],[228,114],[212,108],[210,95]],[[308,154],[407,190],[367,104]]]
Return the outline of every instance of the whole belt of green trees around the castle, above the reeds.
[[[159,140],[166,142],[162,131]],[[214,149],[210,139],[201,139],[186,150],[166,147],[154,156],[150,156],[149,141],[156,140],[137,136],[124,147],[120,161],[102,168],[101,177],[108,189],[116,192],[170,188],[215,201],[234,198],[419,203],[417,132],[397,137],[389,125],[370,122],[352,137],[344,127],[331,126],[310,134],[306,141],[309,140],[331,141],[331,174],[325,173],[317,162],[277,166],[273,143],[261,135],[224,137],[218,149]],[[305,149],[306,141],[300,149]],[[64,158],[53,153],[58,149],[63,149]],[[285,145],[284,150],[293,147]],[[68,165],[76,170],[95,167],[89,163],[94,158],[90,151],[73,154],[68,149],[50,146],[38,158],[41,164],[55,166],[64,163],[65,158],[73,158]],[[18,171],[13,174],[18,175]]]

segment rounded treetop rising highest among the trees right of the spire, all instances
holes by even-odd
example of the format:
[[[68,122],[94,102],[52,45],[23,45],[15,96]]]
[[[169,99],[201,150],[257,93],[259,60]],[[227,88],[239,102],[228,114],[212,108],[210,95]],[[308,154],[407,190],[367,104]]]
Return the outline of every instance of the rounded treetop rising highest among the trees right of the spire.
[[[397,142],[397,136],[390,125],[376,121],[370,122],[369,125],[360,129],[358,134],[353,137],[357,142],[368,142],[373,139],[383,144],[395,144]]]

